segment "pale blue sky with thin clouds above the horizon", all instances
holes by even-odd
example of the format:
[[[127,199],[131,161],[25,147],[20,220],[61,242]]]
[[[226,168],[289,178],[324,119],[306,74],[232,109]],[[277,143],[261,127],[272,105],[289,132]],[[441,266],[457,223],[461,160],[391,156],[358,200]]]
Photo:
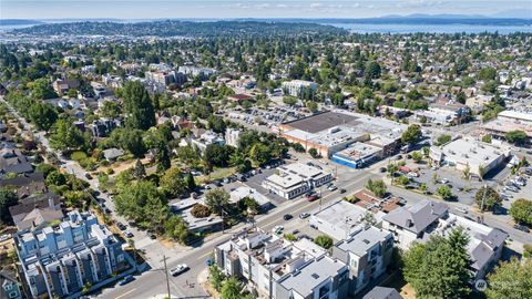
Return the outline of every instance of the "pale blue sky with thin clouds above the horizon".
[[[532,0],[0,0],[0,19],[371,18],[412,13],[532,19]]]

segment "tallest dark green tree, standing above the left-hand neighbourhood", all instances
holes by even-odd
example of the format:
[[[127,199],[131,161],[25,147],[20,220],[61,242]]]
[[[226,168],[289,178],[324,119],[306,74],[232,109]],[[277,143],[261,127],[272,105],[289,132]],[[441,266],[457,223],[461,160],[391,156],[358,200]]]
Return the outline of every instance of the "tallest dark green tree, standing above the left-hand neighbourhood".
[[[131,128],[147,130],[155,125],[155,109],[140,81],[130,81],[123,89],[124,113]]]

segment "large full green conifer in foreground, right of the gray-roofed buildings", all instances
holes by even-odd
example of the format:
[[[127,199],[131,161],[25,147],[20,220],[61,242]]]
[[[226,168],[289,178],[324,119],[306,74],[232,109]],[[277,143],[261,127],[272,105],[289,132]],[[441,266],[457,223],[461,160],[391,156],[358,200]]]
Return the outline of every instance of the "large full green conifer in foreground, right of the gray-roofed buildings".
[[[427,244],[415,243],[405,254],[403,276],[418,298],[467,298],[471,264],[469,237],[460,227],[447,238],[433,236]]]

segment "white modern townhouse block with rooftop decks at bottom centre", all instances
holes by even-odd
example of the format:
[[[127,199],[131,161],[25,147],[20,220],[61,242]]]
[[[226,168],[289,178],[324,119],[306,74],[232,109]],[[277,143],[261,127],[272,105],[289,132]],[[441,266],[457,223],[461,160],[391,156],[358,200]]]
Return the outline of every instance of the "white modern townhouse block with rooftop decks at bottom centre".
[[[247,281],[260,298],[347,296],[348,267],[308,241],[246,230],[215,248],[215,262],[225,275]]]

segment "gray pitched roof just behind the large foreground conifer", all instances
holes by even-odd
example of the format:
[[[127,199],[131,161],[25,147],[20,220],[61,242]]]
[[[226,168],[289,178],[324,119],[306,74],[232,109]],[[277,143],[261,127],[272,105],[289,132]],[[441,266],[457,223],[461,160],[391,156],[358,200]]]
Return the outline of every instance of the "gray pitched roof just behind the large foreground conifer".
[[[395,209],[387,214],[382,220],[419,234],[448,212],[449,207],[446,204],[426,199],[409,208]]]

